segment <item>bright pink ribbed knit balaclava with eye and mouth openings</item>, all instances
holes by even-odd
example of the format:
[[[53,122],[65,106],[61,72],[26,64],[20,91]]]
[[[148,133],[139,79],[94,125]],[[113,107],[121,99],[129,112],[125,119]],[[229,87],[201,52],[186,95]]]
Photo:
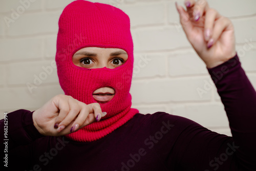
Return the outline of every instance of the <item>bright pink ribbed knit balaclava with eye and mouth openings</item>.
[[[127,61],[115,69],[87,69],[75,66],[73,54],[85,47],[119,48],[128,54]],[[129,93],[133,73],[133,40],[130,19],[110,5],[74,1],[59,18],[56,63],[59,83],[66,95],[86,104],[96,102],[93,92],[102,87],[115,90],[115,96],[100,104],[106,116],[99,122],[66,135],[75,141],[95,141],[126,123],[139,111],[131,109]]]

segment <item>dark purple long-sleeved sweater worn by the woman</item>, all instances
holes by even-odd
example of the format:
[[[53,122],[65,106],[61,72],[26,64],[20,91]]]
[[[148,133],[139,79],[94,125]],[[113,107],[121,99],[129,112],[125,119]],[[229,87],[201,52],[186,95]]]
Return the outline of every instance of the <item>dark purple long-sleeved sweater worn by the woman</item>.
[[[33,125],[33,112],[18,110],[8,114],[8,168],[256,170],[256,92],[237,56],[208,71],[225,106],[232,137],[211,132],[189,119],[157,112],[136,114],[97,141],[75,142],[63,136],[40,135]],[[2,133],[3,129],[1,120]]]

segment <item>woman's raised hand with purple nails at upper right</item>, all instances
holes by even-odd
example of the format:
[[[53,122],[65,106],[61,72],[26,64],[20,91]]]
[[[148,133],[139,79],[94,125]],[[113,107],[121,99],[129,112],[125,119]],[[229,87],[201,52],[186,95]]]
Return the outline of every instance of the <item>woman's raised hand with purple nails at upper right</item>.
[[[180,22],[190,44],[206,63],[214,68],[236,55],[231,21],[208,6],[206,0],[186,0],[185,11],[177,5]]]

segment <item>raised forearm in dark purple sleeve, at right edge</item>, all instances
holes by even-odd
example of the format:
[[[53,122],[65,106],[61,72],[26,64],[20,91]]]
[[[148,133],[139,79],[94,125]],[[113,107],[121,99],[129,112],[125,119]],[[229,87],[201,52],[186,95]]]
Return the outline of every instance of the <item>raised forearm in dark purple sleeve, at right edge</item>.
[[[253,164],[256,153],[256,92],[237,56],[208,71],[225,106],[233,140],[239,146],[237,157],[243,165]]]

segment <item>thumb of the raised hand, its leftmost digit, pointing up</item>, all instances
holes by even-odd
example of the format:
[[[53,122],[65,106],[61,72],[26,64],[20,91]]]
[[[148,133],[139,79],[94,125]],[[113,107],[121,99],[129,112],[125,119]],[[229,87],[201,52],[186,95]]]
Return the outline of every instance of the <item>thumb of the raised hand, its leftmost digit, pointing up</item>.
[[[191,31],[191,29],[193,28],[193,24],[189,19],[189,14],[183,9],[182,6],[179,6],[177,2],[175,2],[175,5],[180,16],[180,24],[185,34],[188,35],[189,31]]]

